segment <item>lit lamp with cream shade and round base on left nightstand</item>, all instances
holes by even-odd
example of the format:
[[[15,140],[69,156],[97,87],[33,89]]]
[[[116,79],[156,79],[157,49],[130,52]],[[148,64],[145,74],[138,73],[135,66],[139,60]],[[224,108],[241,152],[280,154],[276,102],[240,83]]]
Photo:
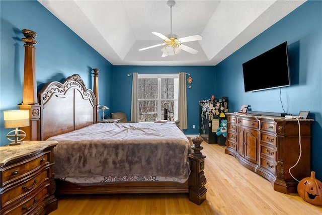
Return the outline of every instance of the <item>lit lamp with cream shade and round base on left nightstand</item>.
[[[10,146],[21,145],[26,132],[18,128],[29,126],[29,110],[4,111],[4,121],[5,128],[16,128],[7,134],[7,139],[11,142]]]

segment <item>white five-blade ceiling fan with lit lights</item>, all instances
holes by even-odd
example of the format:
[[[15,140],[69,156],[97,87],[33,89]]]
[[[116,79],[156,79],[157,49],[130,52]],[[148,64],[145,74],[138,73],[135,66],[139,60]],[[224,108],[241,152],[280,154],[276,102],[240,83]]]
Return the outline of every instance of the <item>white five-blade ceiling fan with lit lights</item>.
[[[139,49],[139,51],[143,51],[149,48],[155,48],[158,46],[163,46],[166,45],[164,48],[161,49],[163,52],[162,56],[166,57],[169,55],[176,55],[178,54],[181,50],[187,51],[191,54],[197,54],[198,50],[193,49],[189,46],[186,46],[182,43],[185,42],[191,42],[191,41],[197,41],[197,40],[202,40],[202,36],[200,35],[193,35],[193,36],[188,36],[188,37],[181,37],[178,38],[178,35],[172,34],[172,8],[175,6],[176,2],[175,1],[168,1],[167,5],[170,7],[170,25],[171,25],[171,33],[168,34],[167,36],[163,35],[162,33],[159,32],[152,32],[155,36],[158,36],[159,38],[163,39],[163,43],[159,43],[156,45],[148,46],[145,48]]]

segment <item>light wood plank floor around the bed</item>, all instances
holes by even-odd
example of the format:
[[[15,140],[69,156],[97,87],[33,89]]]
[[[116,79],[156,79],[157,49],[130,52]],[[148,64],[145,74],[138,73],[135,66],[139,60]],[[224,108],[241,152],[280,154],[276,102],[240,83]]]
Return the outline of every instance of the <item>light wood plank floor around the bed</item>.
[[[298,194],[273,190],[271,183],[224,154],[224,146],[202,143],[207,199],[200,205],[188,194],[102,194],[58,197],[50,215],[68,214],[322,214],[322,207]],[[308,176],[309,177],[309,176]]]

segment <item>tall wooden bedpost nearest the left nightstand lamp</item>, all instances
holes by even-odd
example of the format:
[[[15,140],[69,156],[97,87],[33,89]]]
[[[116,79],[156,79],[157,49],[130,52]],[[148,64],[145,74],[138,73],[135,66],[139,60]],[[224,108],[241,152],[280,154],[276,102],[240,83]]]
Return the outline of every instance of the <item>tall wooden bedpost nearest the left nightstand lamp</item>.
[[[40,105],[37,97],[36,82],[36,57],[34,44],[37,44],[35,38],[37,33],[32,30],[23,29],[25,38],[21,40],[26,44],[25,47],[25,68],[24,68],[24,87],[23,100],[18,107],[21,110],[29,110],[29,126],[21,129],[26,132],[26,140],[39,140],[40,129]]]

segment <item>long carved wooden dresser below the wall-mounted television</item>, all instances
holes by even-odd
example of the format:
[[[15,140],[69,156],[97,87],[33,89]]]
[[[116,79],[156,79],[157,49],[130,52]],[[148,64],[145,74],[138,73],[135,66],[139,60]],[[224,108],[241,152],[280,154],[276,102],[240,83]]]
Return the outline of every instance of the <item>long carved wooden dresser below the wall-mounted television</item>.
[[[274,190],[297,193],[296,180],[309,177],[311,172],[311,123],[314,120],[299,119],[299,138],[297,119],[239,113],[226,115],[225,153],[234,156],[243,166],[268,179]]]

